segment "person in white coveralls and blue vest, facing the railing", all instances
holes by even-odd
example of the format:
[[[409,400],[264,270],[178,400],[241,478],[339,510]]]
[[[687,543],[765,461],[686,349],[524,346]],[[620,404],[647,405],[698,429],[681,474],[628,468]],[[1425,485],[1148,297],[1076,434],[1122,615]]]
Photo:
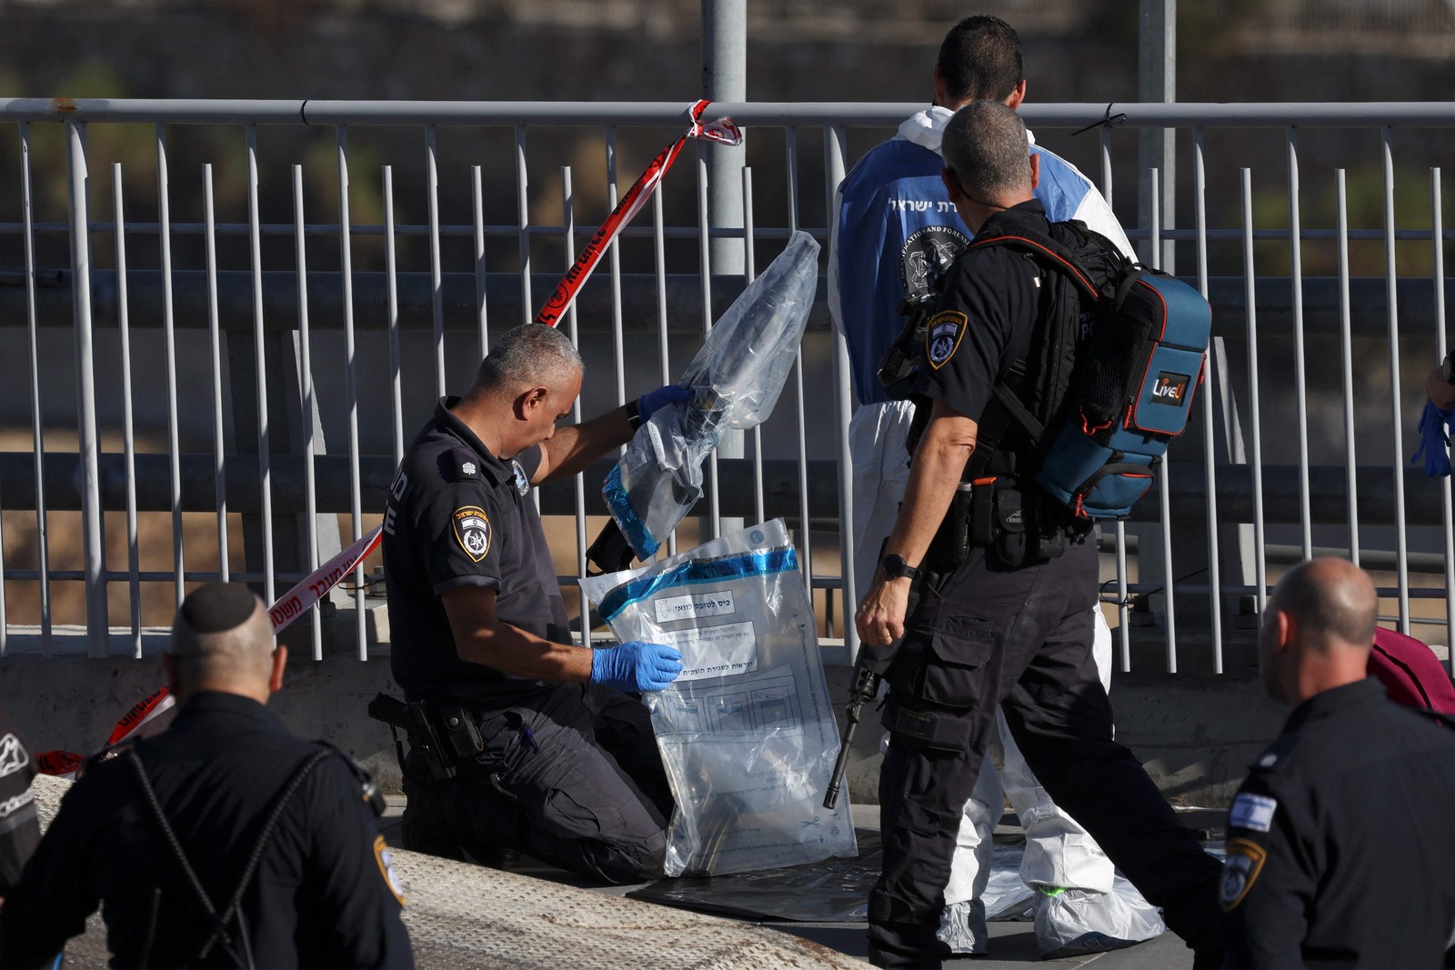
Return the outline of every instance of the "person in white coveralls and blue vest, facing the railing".
[[[946,35],[934,68],[934,105],[899,125],[850,172],[835,196],[829,240],[829,311],[844,334],[857,410],[850,420],[854,465],[853,542],[856,590],[863,596],[880,567],[880,547],[895,525],[909,452],[905,439],[914,406],[889,400],[879,362],[905,324],[906,297],[931,292],[938,270],[970,240],[940,180],[940,143],[954,111],[972,100],[1018,108],[1026,97],[1020,38],[1004,20],[973,16]],[[1030,135],[1030,132],[1027,132]],[[1126,233],[1096,186],[1071,163],[1040,148],[1035,198],[1051,221],[1081,220],[1135,259]],[[1101,686],[1112,685],[1112,634],[1096,612],[1093,653]],[[1036,896],[1036,939],[1043,955],[1068,955],[1131,945],[1164,931],[1157,909],[1112,891],[1113,865],[1096,841],[1040,787],[998,716],[1005,771],[986,759],[965,806],[940,939],[954,954],[986,953],[981,896],[991,873],[991,833],[1004,800],[1026,827],[1021,878]]]

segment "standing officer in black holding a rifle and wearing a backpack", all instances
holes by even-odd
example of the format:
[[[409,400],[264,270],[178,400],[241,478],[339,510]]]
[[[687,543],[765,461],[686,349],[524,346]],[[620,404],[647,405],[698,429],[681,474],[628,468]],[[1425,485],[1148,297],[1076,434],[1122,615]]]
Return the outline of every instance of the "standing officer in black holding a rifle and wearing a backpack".
[[[1049,224],[1033,199],[1037,159],[1027,157],[1024,127],[1005,105],[960,109],[944,132],[944,160],[950,199],[976,237],[1029,225],[1078,243],[1067,236],[1078,231],[1067,228],[1072,224]],[[1199,963],[1219,958],[1218,864],[1132,753],[1112,740],[1112,710],[1091,659],[1094,544],[1049,497],[1037,499],[1029,476],[1002,476],[975,487],[1016,486],[1021,509],[1005,515],[1005,525],[1024,525],[1024,532],[1007,528],[1002,535],[1032,535],[1035,544],[1023,544],[1018,560],[1010,544],[960,548],[946,563],[927,557],[931,542],[953,548],[962,534],[949,528],[946,513],[997,377],[1027,358],[1036,339],[1040,282],[1036,265],[1010,247],[970,250],[952,268],[915,378],[924,398],[918,412],[928,410],[928,420],[917,420],[922,432],[899,518],[856,615],[870,647],[904,638],[886,675],[885,868],[869,900],[870,958],[882,967],[940,966],[936,928],[954,836],[995,731],[997,702],[1056,804],[1164,909]],[[1024,380],[1029,394],[1037,375]],[[1002,439],[1011,449],[1014,441]],[[1039,556],[1036,545],[1058,554]],[[921,569],[936,574],[918,577]],[[906,620],[917,579],[918,608]]]

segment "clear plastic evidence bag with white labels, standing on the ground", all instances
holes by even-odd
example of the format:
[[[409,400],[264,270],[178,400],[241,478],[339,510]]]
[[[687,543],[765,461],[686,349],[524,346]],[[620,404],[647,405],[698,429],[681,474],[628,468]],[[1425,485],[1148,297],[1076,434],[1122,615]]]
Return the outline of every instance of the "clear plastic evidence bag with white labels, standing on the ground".
[[[682,652],[643,698],[677,797],[668,875],[858,855],[848,800],[821,804],[838,721],[783,519],[581,585],[618,640]]]

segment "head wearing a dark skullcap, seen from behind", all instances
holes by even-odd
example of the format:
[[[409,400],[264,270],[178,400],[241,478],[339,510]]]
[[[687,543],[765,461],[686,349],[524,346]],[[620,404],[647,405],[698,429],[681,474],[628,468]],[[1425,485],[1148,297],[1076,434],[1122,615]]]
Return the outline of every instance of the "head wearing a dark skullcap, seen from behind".
[[[179,700],[199,691],[266,700],[276,660],[268,611],[246,586],[208,583],[182,601],[166,649]]]

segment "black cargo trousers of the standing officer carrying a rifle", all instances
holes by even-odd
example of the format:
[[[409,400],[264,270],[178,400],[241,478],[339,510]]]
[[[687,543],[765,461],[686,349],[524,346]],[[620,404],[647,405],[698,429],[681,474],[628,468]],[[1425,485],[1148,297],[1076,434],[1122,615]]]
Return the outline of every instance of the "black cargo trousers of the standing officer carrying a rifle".
[[[1112,739],[1112,708],[1091,659],[1097,556],[1087,541],[1017,570],[968,563],[925,589],[888,672],[889,752],[880,774],[885,868],[869,897],[869,953],[880,967],[938,967],[934,934],[965,800],[1005,711],[1026,762],[1167,925],[1221,950],[1216,883],[1203,852]]]

